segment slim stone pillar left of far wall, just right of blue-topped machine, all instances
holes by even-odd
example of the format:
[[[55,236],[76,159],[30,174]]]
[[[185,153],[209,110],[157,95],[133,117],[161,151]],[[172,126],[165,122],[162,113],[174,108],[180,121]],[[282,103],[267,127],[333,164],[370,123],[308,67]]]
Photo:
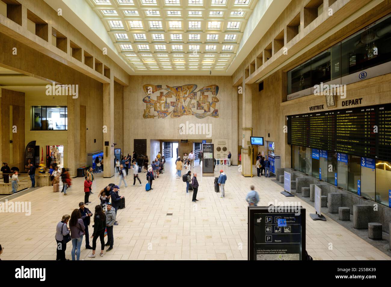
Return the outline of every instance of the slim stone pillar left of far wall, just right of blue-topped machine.
[[[114,75],[103,84],[103,177],[114,175]],[[108,145],[105,142],[109,142]]]

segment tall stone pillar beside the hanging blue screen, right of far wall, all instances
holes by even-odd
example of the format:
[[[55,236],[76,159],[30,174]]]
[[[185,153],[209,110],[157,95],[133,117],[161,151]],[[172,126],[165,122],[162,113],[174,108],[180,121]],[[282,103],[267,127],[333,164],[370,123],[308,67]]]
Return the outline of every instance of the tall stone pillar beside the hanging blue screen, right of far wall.
[[[242,121],[242,140],[244,141],[243,150],[242,150],[242,175],[243,176],[253,176],[252,175],[252,156],[249,153],[249,148],[251,149],[250,137],[252,134],[252,89],[251,85],[244,84],[245,76],[243,75],[243,121]]]

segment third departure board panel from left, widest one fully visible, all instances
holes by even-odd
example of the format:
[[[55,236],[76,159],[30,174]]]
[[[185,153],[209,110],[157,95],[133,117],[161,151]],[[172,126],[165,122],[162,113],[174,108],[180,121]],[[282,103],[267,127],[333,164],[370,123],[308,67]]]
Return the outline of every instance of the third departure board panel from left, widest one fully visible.
[[[375,107],[336,111],[335,150],[341,153],[376,156]]]

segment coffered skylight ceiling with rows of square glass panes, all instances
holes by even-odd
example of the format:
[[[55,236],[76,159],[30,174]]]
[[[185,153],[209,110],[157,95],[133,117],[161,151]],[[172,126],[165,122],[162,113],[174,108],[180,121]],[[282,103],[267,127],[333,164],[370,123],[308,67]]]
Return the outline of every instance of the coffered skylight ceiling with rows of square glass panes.
[[[135,71],[221,71],[258,0],[86,0]]]

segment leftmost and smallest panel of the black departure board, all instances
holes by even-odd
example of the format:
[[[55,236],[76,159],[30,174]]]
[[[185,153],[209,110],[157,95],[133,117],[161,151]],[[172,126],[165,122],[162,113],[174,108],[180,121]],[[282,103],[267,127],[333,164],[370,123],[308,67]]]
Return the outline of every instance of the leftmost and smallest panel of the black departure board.
[[[291,117],[291,127],[289,129],[292,144],[309,147],[310,122],[309,115],[303,114]]]

